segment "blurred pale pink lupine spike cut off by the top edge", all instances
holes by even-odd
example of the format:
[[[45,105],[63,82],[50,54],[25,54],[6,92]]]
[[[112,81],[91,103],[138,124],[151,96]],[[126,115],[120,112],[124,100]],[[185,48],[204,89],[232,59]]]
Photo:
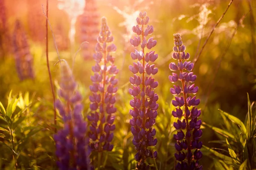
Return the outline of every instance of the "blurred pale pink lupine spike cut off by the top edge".
[[[81,46],[82,57],[85,60],[93,59],[93,49],[99,35],[99,12],[95,1],[86,0],[84,13],[77,19],[79,43],[88,42]]]

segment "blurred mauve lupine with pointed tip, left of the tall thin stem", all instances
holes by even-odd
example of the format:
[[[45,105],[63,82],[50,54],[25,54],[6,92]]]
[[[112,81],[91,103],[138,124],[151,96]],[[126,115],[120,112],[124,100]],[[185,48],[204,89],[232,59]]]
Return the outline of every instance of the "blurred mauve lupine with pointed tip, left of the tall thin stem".
[[[20,80],[34,78],[33,57],[29,51],[29,44],[19,20],[15,22],[12,43],[15,54],[15,63]]]

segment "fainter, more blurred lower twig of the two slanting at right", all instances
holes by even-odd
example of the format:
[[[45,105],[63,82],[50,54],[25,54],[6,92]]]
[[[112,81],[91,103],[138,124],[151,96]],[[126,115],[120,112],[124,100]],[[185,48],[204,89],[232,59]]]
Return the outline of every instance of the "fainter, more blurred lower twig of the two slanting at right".
[[[250,10],[249,12],[251,12],[251,10]],[[246,17],[246,15],[247,15],[249,12],[247,12],[246,14],[244,14],[244,15],[241,17],[241,19],[239,20],[239,23],[237,24],[235,30],[233,31],[233,33],[232,33],[232,35],[231,35],[231,37],[230,37],[230,40],[229,40],[229,43],[228,43],[227,46],[226,46],[226,49],[223,51],[223,53],[222,53],[222,55],[221,55],[220,61],[218,62],[218,66],[217,66],[217,68],[215,69],[214,77],[212,78],[212,81],[209,83],[209,86],[208,86],[209,89],[208,89],[208,92],[207,92],[207,97],[206,97],[206,100],[205,100],[204,109],[206,108],[207,101],[208,101],[208,99],[209,99],[209,95],[210,95],[211,90],[212,90],[212,85],[214,84],[214,81],[215,81],[215,78],[216,78],[216,76],[217,76],[218,70],[219,70],[219,68],[220,68],[220,66],[221,66],[221,61],[222,61],[222,59],[224,58],[224,56],[227,54],[227,51],[228,51],[228,49],[229,49],[229,47],[230,47],[230,45],[231,45],[231,42],[232,42],[232,40],[233,40],[233,37],[234,37],[235,34],[236,34],[236,31],[237,31],[238,27],[241,25],[241,23],[243,22],[244,18]],[[203,110],[204,110],[204,109],[203,109]]]

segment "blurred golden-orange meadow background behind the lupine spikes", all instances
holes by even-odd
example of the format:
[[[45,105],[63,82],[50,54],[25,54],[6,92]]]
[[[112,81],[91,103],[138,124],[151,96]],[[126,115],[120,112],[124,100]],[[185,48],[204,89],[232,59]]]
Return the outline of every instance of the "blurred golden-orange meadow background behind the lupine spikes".
[[[132,35],[131,28],[136,24],[138,12],[146,11],[151,19],[151,24],[154,26],[154,37],[157,40],[155,51],[159,56],[156,62],[159,73],[155,76],[156,80],[159,81],[156,92],[160,98],[157,122],[154,125],[158,139],[156,161],[158,170],[170,170],[175,163],[174,141],[172,140],[175,131],[172,124],[175,118],[171,113],[174,109],[171,105],[173,96],[169,92],[172,84],[168,80],[170,74],[168,66],[172,62],[173,34],[180,33],[187,48],[186,52],[189,52],[194,58],[201,50],[209,32],[227,8],[230,0],[95,1],[99,16],[107,17],[114,43],[117,46],[115,63],[120,70],[118,75],[119,90],[116,95],[118,111],[115,120],[117,128],[113,140],[114,150],[108,153],[107,164],[102,169],[130,170],[135,168],[135,150],[129,124],[131,116],[128,114],[129,100],[131,99],[128,94],[128,88],[131,87],[128,80],[132,75],[128,71],[128,66],[132,63],[130,53],[134,50],[129,43],[129,38]],[[58,3],[60,3],[58,0],[49,0],[49,21],[56,38],[60,58],[67,60],[72,66],[74,55],[80,46],[79,40],[77,40],[79,35],[76,35],[74,43],[70,43],[70,15],[64,10],[58,9]],[[7,135],[2,136],[3,138],[0,136],[0,168],[3,169],[12,169],[13,167],[56,169],[54,141],[52,139],[54,134],[53,105],[45,58],[45,16],[42,4],[45,8],[46,0],[0,0],[0,101],[3,107],[7,108],[10,98],[16,98],[15,100],[18,102],[26,98],[26,107],[18,106],[17,112],[19,113],[13,117],[14,120],[11,118],[11,121],[17,121],[15,119],[17,116],[25,116],[24,120],[29,122],[28,124],[19,124],[19,131],[15,132],[17,139],[14,141],[17,142],[17,146],[22,138],[26,138],[23,135],[28,135],[32,127],[40,129],[36,134],[28,137],[29,142],[24,144],[22,149],[17,147],[13,151],[3,146],[3,143],[8,144],[9,139],[5,139]],[[227,126],[227,120],[219,113],[218,109],[228,112],[244,122],[248,112],[247,93],[250,96],[250,101],[256,101],[256,20],[253,17],[256,16],[256,12],[253,10],[248,13],[250,6],[254,9],[256,2],[254,0],[234,0],[195,64],[194,72],[198,77],[195,83],[199,86],[198,98],[201,99],[201,119],[205,124],[212,127],[224,128]],[[232,33],[244,14],[247,16],[238,27],[229,49],[226,50]],[[13,30],[17,19],[24,27],[29,50],[33,56],[34,79],[20,81],[15,70],[12,36],[15,34]],[[76,24],[76,28],[78,26],[79,23]],[[58,55],[51,30],[48,34],[50,68],[52,78],[55,84],[58,84],[59,68],[58,64],[54,65],[58,62]],[[201,45],[198,48],[200,41]],[[225,55],[218,67],[222,53]],[[79,82],[79,91],[84,98],[84,118],[86,118],[90,104],[88,96],[90,95],[91,82],[89,79],[92,73],[91,66],[94,63],[93,60],[85,61],[81,57],[81,52],[78,52],[74,61],[73,74],[76,81]],[[11,90],[12,95],[8,97]],[[26,97],[22,97],[24,95]],[[0,123],[0,132],[2,133],[4,131],[2,128],[6,124],[3,121]],[[60,126],[61,123],[58,122],[57,128],[61,128]],[[211,142],[217,140],[224,140],[224,143]],[[219,153],[229,156],[225,138],[223,139],[219,133],[211,128],[205,126],[201,141],[205,146],[219,148],[217,150]],[[19,155],[15,155],[16,152]],[[227,162],[207,149],[204,150],[203,154],[205,156],[201,160],[201,164],[204,165],[204,169],[221,170],[223,166],[237,168],[227,165]],[[16,162],[11,161],[14,160],[12,159],[13,155],[18,156],[15,158]],[[150,163],[154,164],[154,162]]]

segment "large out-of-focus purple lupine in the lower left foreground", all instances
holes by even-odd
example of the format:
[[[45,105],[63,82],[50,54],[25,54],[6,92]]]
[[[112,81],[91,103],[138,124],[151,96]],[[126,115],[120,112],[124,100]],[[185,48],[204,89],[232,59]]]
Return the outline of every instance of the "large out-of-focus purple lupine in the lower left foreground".
[[[61,82],[56,100],[64,128],[54,136],[57,165],[60,170],[90,170],[87,124],[82,118],[81,94],[66,62],[61,62]]]

